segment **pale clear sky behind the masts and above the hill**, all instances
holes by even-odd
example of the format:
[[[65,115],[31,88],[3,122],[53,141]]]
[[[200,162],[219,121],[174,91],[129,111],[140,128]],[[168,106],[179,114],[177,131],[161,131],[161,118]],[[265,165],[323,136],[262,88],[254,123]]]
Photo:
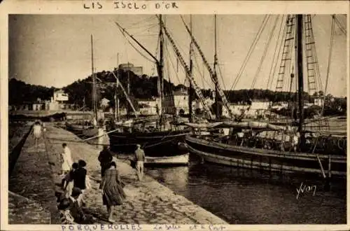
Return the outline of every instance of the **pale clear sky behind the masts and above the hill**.
[[[265,15],[217,15],[217,54],[222,76],[220,82],[225,90],[231,89],[264,17]],[[324,87],[332,18],[330,15],[311,17],[316,55]],[[183,59],[188,62],[190,37],[180,15],[163,15],[163,18]],[[183,15],[183,18],[189,24],[190,15]],[[337,19],[346,28],[346,15],[337,15]],[[141,51],[140,55],[114,22],[118,22],[151,53],[156,54],[158,19],[155,15],[10,15],[9,78],[48,87],[64,87],[75,80],[86,78],[91,74],[91,34],[94,44],[94,66],[97,71],[111,71],[118,63],[131,62],[135,66],[143,66],[144,73],[148,76],[156,75],[155,64],[151,57],[132,43]],[[193,34],[209,64],[212,65],[215,48],[214,15],[192,15],[192,22]],[[269,21],[234,90],[251,87],[267,89],[280,23],[281,16],[269,15]],[[272,34],[274,25],[276,26]],[[269,36],[272,36],[271,43],[257,73]],[[165,78],[175,84],[187,85],[183,68],[175,58],[172,46],[169,42],[167,44]],[[205,69],[198,52],[195,52],[195,60],[196,82],[200,87],[213,87],[209,72]],[[335,25],[331,60],[326,93],[346,96],[346,36],[337,25]],[[254,76],[256,76],[255,84],[253,84]],[[276,90],[276,78],[269,89]]]

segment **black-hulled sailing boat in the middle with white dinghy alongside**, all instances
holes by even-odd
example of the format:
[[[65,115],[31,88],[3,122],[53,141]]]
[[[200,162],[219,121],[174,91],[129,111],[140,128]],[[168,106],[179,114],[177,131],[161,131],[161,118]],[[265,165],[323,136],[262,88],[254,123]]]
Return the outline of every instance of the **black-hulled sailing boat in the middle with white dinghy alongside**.
[[[134,153],[137,144],[140,144],[141,148],[145,151],[146,165],[187,165],[188,151],[186,148],[181,147],[181,142],[185,141],[185,137],[190,133],[190,130],[184,125],[177,125],[173,121],[169,121],[169,118],[165,116],[162,109],[164,92],[162,84],[164,25],[162,22],[162,15],[160,15],[158,19],[160,24],[159,59],[152,55],[144,45],[141,45],[136,38],[128,34],[127,31],[116,22],[116,25],[127,34],[127,36],[130,36],[134,42],[155,60],[158,71],[158,96],[160,100],[158,101],[159,116],[156,118],[134,120],[132,126],[123,127],[123,131],[115,130],[116,127],[113,127],[115,131],[109,132],[111,150],[118,153]]]

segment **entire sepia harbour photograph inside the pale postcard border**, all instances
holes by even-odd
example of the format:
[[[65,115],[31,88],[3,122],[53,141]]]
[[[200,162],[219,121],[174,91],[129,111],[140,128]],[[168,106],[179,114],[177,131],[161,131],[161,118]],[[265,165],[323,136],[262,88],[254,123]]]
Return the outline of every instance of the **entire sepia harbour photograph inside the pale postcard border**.
[[[8,224],[345,225],[347,23],[9,14]]]

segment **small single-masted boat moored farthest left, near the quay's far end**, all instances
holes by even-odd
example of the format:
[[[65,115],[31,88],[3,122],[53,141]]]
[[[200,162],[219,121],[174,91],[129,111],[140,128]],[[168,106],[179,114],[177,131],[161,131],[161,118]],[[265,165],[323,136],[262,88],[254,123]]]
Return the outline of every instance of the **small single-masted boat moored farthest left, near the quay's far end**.
[[[91,69],[92,69],[92,116],[90,118],[90,122],[85,121],[85,118],[80,123],[69,123],[66,122],[66,129],[76,133],[81,138],[91,138],[91,137],[99,137],[99,134],[103,132],[103,128],[101,128],[98,122],[98,113],[97,113],[97,87],[96,87],[96,76],[94,73],[94,48],[93,48],[93,40],[91,35]],[[84,98],[85,104],[85,98]],[[85,114],[83,115],[85,117]]]

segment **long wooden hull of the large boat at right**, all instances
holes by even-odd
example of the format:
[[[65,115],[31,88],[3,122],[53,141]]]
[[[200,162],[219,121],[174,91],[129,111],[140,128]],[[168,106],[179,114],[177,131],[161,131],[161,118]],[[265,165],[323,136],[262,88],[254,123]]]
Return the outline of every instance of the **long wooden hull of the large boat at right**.
[[[317,155],[312,153],[282,152],[234,146],[198,139],[190,135],[186,137],[186,145],[190,153],[199,155],[204,161],[216,164],[262,169],[271,172],[322,174]],[[346,176],[346,156],[320,154],[318,157],[327,176],[329,173]]]

